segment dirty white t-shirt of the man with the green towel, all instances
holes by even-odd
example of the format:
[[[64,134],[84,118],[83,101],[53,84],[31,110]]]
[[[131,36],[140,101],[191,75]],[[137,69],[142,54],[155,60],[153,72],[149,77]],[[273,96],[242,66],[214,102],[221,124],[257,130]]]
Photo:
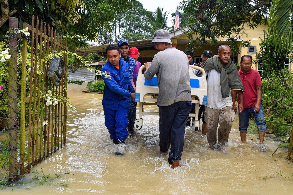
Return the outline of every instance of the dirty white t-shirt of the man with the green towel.
[[[220,85],[221,73],[212,69],[209,71],[207,78],[207,107],[221,110],[226,106],[232,106],[232,96],[231,91],[229,92],[229,97],[222,98],[221,85]]]

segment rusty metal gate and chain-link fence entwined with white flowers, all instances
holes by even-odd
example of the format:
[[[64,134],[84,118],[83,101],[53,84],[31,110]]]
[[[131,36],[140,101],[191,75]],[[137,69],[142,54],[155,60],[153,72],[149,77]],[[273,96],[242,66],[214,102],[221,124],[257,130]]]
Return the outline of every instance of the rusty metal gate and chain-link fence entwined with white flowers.
[[[17,180],[66,143],[68,56],[58,86],[46,57],[68,51],[67,40],[34,16],[25,28],[9,18],[9,54],[2,53],[10,58],[0,60],[0,182]]]

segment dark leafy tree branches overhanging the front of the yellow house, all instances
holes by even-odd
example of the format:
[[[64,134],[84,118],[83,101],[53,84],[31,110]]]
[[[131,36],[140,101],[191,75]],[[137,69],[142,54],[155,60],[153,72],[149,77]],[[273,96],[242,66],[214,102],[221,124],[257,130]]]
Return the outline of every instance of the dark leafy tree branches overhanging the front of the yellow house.
[[[245,35],[244,26],[256,28],[267,22],[270,0],[183,0],[180,3],[185,14],[189,15],[187,25],[191,44],[217,45],[218,37],[227,37],[232,53],[238,53],[238,41]],[[194,35],[197,34],[197,37]],[[248,47],[249,41],[242,41],[241,47]]]

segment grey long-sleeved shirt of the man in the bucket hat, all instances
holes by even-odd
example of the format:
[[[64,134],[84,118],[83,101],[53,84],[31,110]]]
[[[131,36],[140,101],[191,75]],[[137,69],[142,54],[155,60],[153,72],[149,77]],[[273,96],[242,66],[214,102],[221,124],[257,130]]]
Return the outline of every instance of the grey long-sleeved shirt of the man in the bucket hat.
[[[175,47],[167,47],[157,53],[144,72],[149,80],[157,75],[159,85],[158,106],[191,101],[189,63],[186,54]]]

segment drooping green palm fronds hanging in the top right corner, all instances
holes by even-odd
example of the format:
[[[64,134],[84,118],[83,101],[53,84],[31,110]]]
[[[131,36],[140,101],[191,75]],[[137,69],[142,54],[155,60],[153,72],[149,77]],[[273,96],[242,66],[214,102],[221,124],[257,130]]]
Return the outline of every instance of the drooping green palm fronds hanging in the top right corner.
[[[277,52],[284,48],[290,55],[293,54],[292,8],[292,0],[272,0],[269,18],[269,33],[272,35]]]

